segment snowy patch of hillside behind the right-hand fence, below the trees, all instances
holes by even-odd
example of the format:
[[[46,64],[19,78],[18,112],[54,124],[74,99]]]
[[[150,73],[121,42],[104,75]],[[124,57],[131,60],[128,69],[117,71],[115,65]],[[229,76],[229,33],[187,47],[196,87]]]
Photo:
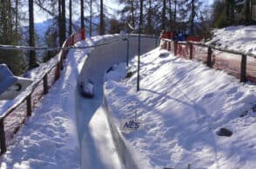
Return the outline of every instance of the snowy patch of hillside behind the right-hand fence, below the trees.
[[[256,55],[256,26],[232,26],[213,30],[210,42],[226,49],[251,52]]]

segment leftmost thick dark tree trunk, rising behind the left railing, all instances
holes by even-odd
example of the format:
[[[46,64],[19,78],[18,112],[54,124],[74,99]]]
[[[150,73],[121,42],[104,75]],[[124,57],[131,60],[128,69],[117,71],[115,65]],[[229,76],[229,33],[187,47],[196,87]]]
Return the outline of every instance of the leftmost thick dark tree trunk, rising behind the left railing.
[[[34,29],[34,5],[33,0],[29,0],[29,17],[30,17],[30,46],[35,46],[35,29]],[[29,68],[37,67],[37,58],[35,50],[30,50]]]

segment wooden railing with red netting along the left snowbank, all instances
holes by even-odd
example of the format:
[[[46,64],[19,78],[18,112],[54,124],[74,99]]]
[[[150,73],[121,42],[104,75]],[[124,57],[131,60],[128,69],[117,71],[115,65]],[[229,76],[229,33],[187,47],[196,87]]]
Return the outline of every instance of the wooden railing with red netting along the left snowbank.
[[[74,43],[85,39],[85,30],[82,29],[70,36],[63,44],[63,48],[70,47]],[[26,89],[27,94],[24,94],[15,104],[9,107],[0,116],[0,148],[1,154],[7,151],[8,142],[13,139],[14,134],[24,124],[24,121],[32,114],[32,110],[40,101],[44,94],[48,94],[49,88],[60,77],[61,69],[64,68],[63,61],[68,54],[68,50],[60,50],[57,57],[57,62],[51,65],[43,75],[34,81],[30,87]],[[51,81],[49,81],[51,77]],[[43,86],[43,88],[42,88]],[[18,114],[18,118],[15,115]],[[21,119],[21,116],[23,119]],[[16,119],[17,118],[17,119]],[[8,120],[9,119],[9,120]],[[16,125],[16,126],[15,126]]]

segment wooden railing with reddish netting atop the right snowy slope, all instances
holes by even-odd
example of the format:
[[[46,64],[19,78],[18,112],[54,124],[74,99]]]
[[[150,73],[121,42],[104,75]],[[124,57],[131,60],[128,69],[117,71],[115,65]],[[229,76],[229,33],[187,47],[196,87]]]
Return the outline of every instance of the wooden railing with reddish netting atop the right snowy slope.
[[[204,62],[210,68],[225,70],[241,82],[256,82],[256,55],[224,49],[201,42],[174,42],[161,39],[161,48],[186,59]]]

